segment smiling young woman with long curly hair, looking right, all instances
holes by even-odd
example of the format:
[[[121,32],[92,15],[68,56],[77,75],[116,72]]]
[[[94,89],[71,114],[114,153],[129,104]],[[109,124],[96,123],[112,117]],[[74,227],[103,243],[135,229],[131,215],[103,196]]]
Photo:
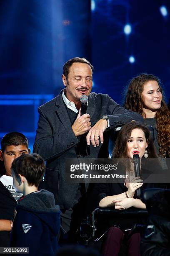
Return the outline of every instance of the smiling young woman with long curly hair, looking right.
[[[154,144],[160,157],[170,157],[170,110],[163,100],[158,77],[140,74],[128,84],[123,107],[143,116],[145,124],[154,128]]]

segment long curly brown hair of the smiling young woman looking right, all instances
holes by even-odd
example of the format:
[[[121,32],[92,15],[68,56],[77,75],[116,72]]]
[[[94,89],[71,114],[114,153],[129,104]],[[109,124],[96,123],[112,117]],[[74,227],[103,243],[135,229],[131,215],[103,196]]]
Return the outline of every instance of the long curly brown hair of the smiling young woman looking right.
[[[123,107],[139,113],[145,118],[143,112],[142,92],[144,85],[149,81],[156,81],[160,87],[160,92],[164,96],[160,79],[153,74],[140,74],[134,77],[128,84],[128,90],[125,96]],[[160,146],[159,153],[161,157],[170,157],[170,110],[162,99],[161,107],[155,115],[156,130],[158,132],[157,140]]]

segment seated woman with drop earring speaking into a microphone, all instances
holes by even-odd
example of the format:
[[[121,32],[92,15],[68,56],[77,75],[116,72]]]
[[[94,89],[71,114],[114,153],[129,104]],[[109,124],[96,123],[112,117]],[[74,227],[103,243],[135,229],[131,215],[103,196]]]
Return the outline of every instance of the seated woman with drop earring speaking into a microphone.
[[[148,154],[145,153],[147,148]],[[100,207],[114,207],[122,211],[130,207],[145,209],[145,204],[136,196],[137,189],[154,187],[154,184],[144,184],[142,178],[135,177],[133,156],[140,157],[141,173],[143,172],[143,157],[157,158],[155,146],[150,138],[147,126],[132,122],[124,125],[120,130],[112,157],[115,159],[129,160],[125,172],[128,177],[124,183],[97,184],[98,202]],[[133,233],[132,228],[138,224],[138,218],[114,219],[115,224],[107,231],[103,246],[104,256],[116,256],[120,251],[122,241],[126,242],[128,256],[140,256],[140,234]],[[113,225],[113,223],[111,224]]]

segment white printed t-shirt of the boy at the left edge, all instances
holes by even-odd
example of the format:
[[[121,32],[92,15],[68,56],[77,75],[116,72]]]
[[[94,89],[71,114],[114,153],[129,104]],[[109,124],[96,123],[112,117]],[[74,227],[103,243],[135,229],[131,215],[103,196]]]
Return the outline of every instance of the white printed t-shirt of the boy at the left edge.
[[[20,197],[22,197],[23,194],[16,192],[15,188],[13,187],[12,176],[2,175],[2,177],[0,177],[0,181],[9,190],[15,200],[18,200]]]

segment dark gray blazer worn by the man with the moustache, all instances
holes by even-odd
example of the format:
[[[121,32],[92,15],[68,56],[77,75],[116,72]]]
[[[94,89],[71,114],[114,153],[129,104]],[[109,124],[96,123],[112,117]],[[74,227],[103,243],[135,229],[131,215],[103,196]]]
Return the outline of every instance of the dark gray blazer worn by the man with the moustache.
[[[103,115],[107,115],[110,130],[143,118],[132,111],[121,108],[107,94],[90,93],[88,96],[87,113],[93,126]],[[67,184],[65,179],[65,160],[68,158],[90,157],[104,158],[108,156],[108,136],[110,131],[104,132],[104,143],[94,148],[84,143],[84,153],[77,154],[77,138],[72,131],[70,118],[62,100],[62,91],[49,102],[38,108],[40,118],[35,137],[33,152],[40,154],[46,161],[45,189],[55,195],[60,208],[68,209],[72,206],[77,192],[78,184]]]

